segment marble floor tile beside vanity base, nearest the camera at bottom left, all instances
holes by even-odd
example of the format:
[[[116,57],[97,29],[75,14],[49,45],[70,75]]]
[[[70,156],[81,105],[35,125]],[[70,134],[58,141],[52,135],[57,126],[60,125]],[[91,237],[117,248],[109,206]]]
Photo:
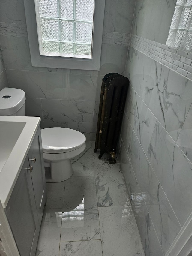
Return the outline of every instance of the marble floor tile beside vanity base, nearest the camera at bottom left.
[[[35,256],[59,254],[62,209],[45,209]]]

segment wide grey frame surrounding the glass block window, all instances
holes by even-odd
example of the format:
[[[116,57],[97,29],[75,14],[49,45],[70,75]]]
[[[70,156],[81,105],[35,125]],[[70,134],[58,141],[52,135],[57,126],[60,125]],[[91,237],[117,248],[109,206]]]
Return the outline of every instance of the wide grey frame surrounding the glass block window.
[[[35,14],[35,1],[24,0],[24,6],[32,66],[46,68],[100,70],[105,0],[95,0],[91,59],[40,55]]]

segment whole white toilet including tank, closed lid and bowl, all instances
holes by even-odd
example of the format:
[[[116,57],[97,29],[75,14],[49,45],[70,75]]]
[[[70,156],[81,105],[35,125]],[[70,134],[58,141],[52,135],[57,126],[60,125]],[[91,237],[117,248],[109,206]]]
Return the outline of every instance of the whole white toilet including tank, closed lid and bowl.
[[[0,91],[1,116],[25,116],[25,92],[16,88]],[[60,182],[73,174],[71,158],[82,153],[86,137],[81,132],[61,127],[41,130],[46,182]]]

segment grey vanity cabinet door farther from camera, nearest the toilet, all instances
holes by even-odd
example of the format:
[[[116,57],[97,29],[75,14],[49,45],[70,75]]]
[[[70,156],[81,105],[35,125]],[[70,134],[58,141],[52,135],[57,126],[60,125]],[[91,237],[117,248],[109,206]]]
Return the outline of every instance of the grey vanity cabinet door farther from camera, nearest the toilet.
[[[46,200],[46,190],[45,190],[46,183],[45,183],[45,169],[44,169],[40,126],[32,142],[32,145],[29,149],[28,156],[29,156],[29,164],[30,166],[33,167],[31,176],[32,176],[32,182],[33,182],[33,189],[35,194],[38,218],[39,218],[39,222],[41,223],[45,200]],[[35,163],[33,161],[34,158],[36,159]]]

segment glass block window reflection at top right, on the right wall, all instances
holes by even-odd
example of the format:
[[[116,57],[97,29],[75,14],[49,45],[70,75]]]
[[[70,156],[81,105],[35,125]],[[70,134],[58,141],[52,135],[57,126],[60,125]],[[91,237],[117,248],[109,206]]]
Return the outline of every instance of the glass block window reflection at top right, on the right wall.
[[[177,0],[167,45],[192,50],[192,0]]]

